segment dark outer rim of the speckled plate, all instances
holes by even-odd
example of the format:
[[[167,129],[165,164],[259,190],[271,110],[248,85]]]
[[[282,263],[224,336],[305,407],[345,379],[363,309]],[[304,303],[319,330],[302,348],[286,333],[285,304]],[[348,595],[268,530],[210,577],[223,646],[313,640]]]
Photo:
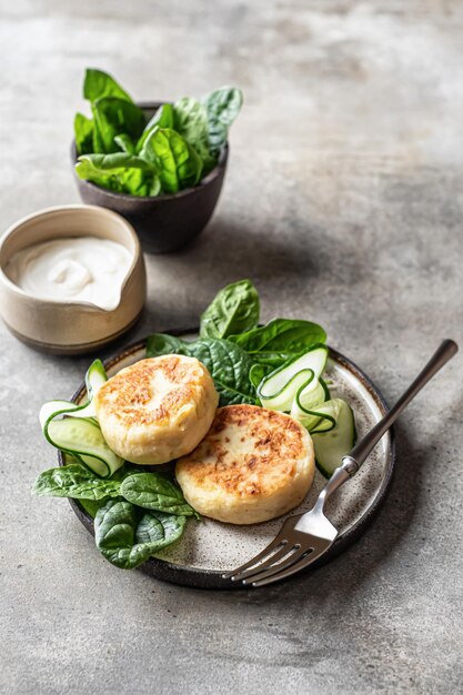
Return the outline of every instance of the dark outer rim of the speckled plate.
[[[198,333],[198,326],[194,329],[177,329],[173,331],[165,331],[165,333],[179,336],[190,335]],[[115,366],[122,360],[125,360],[134,353],[139,352],[140,350],[143,350],[147,340],[141,340],[137,343],[133,343],[132,345],[129,345],[123,352],[120,352],[115,356],[105,360],[104,366],[108,370]],[[376,405],[380,407],[381,413],[385,414],[389,410],[387,404],[381,391],[378,389],[378,386],[375,386],[371,379],[366,376],[366,374],[360,367],[358,367],[356,364],[354,364],[351,360],[348,360],[348,357],[345,357],[343,354],[341,354],[336,350],[333,350],[332,348],[329,348],[329,350],[330,357],[334,359],[339,364],[348,369],[362,383],[362,385],[373,397]],[[84,382],[82,382],[71,400],[73,402],[78,402],[82,397],[84,392],[85,384]],[[318,567],[329,562],[330,560],[342,553],[349,545],[354,543],[354,541],[356,541],[363,534],[369,524],[373,521],[374,516],[378,514],[382,503],[386,497],[395,463],[395,437],[393,429],[390,430],[389,436],[390,446],[387,452],[386,470],[384,477],[381,482],[381,486],[379,487],[373,502],[370,504],[362,517],[353,526],[351,526],[350,528],[348,528],[348,531],[340,535],[336,541],[334,541],[331,548],[319,561],[310,565],[305,570],[305,572],[309,572],[311,568]],[[58,461],[60,465],[64,465],[64,457],[61,452],[58,452]],[[89,533],[93,534],[93,520],[91,518],[91,516],[80,506],[80,504],[76,500],[69,497],[68,501],[79,521],[83,524],[87,531],[89,531]],[[249,588],[243,586],[242,584],[234,584],[230,580],[223,580],[223,570],[219,571],[194,568],[184,565],[177,565],[165,560],[158,560],[157,557],[150,557],[150,560],[141,565],[139,570],[144,574],[148,574],[158,580],[163,580],[183,586],[193,586],[195,588]],[[291,581],[291,578],[286,581]]]

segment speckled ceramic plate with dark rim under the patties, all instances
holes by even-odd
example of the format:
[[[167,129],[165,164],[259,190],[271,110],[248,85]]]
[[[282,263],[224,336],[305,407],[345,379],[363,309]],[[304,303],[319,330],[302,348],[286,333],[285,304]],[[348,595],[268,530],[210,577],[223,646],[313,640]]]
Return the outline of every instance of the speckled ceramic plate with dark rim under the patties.
[[[188,336],[193,331],[172,331],[171,334]],[[145,356],[145,342],[137,343],[107,361],[108,374],[115,374],[123,366]],[[345,397],[355,413],[358,434],[362,437],[386,412],[386,404],[371,380],[350,360],[330,349],[325,375],[333,385],[333,396]],[[82,383],[73,396],[74,402],[85,397]],[[61,461],[62,463],[62,461]],[[392,433],[384,435],[373,454],[354,479],[349,481],[329,501],[326,515],[340,531],[331,548],[315,564],[326,562],[350,545],[372,521],[387,492],[394,466]],[[298,510],[310,510],[325,483],[315,472],[313,486]],[[93,533],[93,522],[78,502],[71,506],[88,531]],[[188,586],[205,588],[239,588],[240,585],[222,580],[222,572],[243,564],[274,538],[285,517],[252,526],[235,526],[204,518],[201,523],[187,524],[183,537],[171,547],[145,562],[140,570],[147,574]],[[312,565],[312,567],[314,566]],[[306,571],[310,571],[309,567]]]

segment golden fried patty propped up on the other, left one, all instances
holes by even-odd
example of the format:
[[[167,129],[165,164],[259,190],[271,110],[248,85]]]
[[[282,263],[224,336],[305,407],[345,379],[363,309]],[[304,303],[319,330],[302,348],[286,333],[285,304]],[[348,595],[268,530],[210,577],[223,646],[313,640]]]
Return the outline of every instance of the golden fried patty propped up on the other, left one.
[[[219,396],[199,360],[162,355],[121,370],[94,403],[103,436],[117,454],[158,464],[197,446],[211,426]]]

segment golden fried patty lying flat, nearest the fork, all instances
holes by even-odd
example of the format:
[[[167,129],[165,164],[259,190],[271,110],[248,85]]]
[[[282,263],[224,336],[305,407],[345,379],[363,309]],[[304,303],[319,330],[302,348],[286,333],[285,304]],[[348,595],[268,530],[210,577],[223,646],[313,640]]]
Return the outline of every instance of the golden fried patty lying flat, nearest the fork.
[[[305,427],[255,405],[220,407],[205,437],[175,469],[191,506],[231,524],[254,524],[289,512],[305,497],[313,474]]]

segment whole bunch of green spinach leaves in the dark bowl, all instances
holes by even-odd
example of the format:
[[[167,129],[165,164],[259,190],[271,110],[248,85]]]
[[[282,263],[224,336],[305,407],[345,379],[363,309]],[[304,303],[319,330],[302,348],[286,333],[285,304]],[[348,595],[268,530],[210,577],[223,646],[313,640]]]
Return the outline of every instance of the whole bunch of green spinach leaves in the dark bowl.
[[[103,189],[137,197],[174,194],[210,173],[243,101],[222,87],[204,99],[162,103],[151,119],[108,73],[88,69],[83,97],[92,118],[74,118],[76,172]]]

